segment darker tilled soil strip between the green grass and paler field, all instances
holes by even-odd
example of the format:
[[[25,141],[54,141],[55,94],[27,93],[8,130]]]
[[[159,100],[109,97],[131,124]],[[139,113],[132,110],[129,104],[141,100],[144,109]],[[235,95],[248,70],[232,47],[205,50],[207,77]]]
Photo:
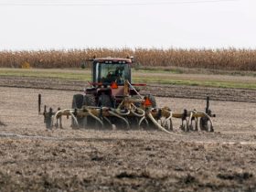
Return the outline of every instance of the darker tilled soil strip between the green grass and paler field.
[[[85,81],[80,80],[0,77],[0,86],[59,91],[83,91],[84,87],[88,85]],[[206,99],[209,96],[213,101],[256,102],[256,91],[244,89],[149,84],[146,87],[140,87],[140,90],[142,94],[150,93],[157,97]]]

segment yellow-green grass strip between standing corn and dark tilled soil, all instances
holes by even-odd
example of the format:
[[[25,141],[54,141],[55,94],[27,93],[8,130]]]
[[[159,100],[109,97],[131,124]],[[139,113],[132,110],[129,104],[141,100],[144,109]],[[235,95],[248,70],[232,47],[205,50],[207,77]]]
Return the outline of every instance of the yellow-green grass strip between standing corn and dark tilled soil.
[[[140,72],[141,73],[141,72]],[[183,86],[201,86],[215,88],[231,88],[231,89],[248,89],[256,90],[256,80],[251,82],[238,82],[230,80],[184,80],[182,76],[172,77],[161,76],[166,74],[166,71],[161,73],[157,71],[159,76],[152,76],[152,73],[141,74],[133,71],[133,82],[141,83],[159,83],[169,85]],[[52,78],[59,80],[91,80],[91,69],[0,69],[0,77],[31,77],[31,78]]]

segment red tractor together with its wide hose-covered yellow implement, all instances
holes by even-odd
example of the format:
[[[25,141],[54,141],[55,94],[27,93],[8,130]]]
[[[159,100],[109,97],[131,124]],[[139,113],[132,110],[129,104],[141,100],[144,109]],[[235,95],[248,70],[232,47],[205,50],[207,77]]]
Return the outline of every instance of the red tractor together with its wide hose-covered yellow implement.
[[[173,131],[173,118],[181,120],[181,130],[213,132],[211,117],[215,114],[209,109],[207,98],[206,112],[196,110],[173,112],[169,107],[158,108],[155,97],[142,96],[139,86],[133,84],[131,65],[133,59],[92,59],[91,88],[84,94],[75,94],[70,109],[52,108],[41,112],[41,95],[38,95],[38,113],[44,115],[48,129],[62,128],[62,117],[71,119],[72,128],[131,129],[158,128],[166,133]]]

